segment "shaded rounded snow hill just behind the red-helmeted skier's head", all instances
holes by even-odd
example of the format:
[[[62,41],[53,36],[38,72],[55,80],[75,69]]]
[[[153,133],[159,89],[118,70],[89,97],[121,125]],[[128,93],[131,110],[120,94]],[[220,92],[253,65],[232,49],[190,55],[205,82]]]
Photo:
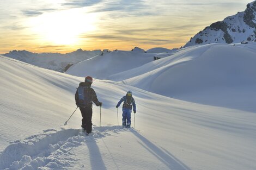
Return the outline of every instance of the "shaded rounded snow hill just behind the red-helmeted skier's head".
[[[97,55],[71,66],[65,73],[80,77],[92,75],[98,79],[106,79],[109,75],[154,61],[156,53],[144,53],[138,48],[135,49],[135,51],[113,51],[103,56]]]

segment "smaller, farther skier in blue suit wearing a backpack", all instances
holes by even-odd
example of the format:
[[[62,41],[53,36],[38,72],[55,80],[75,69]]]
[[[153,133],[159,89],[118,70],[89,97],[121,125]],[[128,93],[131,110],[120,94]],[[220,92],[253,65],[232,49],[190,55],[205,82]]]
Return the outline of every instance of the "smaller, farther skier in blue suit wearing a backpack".
[[[133,108],[133,112],[136,113],[136,104],[135,100],[132,97],[132,92],[129,90],[126,93],[126,96],[122,97],[120,101],[118,102],[116,108],[120,106],[120,104],[124,102],[123,104],[123,127],[124,128],[130,128],[131,127],[131,112]]]

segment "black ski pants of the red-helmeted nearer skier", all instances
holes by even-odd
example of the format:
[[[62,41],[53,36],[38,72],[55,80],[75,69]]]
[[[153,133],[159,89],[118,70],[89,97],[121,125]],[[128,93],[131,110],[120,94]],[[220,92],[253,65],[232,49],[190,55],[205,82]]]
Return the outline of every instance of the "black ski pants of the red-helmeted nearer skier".
[[[92,116],[93,116],[93,109],[91,107],[80,107],[79,108],[82,114],[82,128],[86,129],[86,133],[92,132]]]

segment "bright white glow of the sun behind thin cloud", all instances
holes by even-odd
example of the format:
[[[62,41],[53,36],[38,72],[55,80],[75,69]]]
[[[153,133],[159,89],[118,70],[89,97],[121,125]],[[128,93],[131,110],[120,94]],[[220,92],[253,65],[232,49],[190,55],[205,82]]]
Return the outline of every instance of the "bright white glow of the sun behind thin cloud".
[[[69,9],[42,14],[32,18],[29,24],[40,41],[52,45],[74,45],[83,33],[95,30],[95,20],[95,14]]]

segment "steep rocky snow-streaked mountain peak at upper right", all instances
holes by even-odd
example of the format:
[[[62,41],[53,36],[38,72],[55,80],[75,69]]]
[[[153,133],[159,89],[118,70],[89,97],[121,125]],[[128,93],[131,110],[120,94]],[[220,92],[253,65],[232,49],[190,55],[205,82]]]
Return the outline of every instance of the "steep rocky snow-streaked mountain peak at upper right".
[[[247,4],[245,11],[212,23],[192,37],[184,47],[242,41],[256,41],[256,1]]]

